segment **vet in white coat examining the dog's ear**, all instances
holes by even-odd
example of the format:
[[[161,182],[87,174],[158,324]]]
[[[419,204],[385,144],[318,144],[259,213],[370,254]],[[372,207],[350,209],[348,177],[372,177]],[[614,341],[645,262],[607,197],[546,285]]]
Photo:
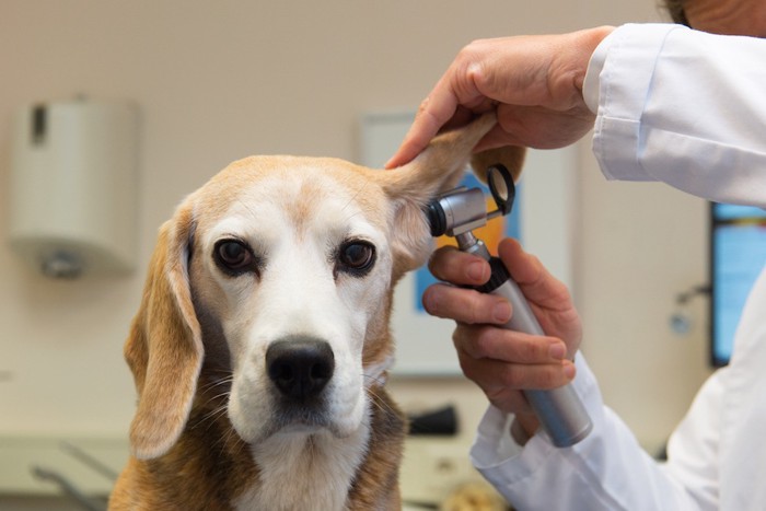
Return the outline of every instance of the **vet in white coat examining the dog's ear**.
[[[668,2],[675,25],[468,45],[422,103],[390,166],[415,156],[442,127],[496,108],[498,126],[481,147],[557,148],[594,128],[593,151],[607,178],[664,182],[711,200],[766,207],[766,2]],[[546,332],[574,353],[580,320],[562,284],[513,241],[503,241],[500,256]],[[431,269],[455,283],[489,276],[484,262],[454,249],[440,251]],[[491,402],[472,458],[510,502],[544,510],[766,509],[766,271],[743,312],[731,363],[699,391],[670,439],[666,464],[648,456],[603,405],[580,353],[572,376],[552,338],[487,327],[510,314],[497,300],[437,284],[423,301],[430,313],[457,322],[463,370]],[[594,430],[556,449],[535,434],[517,390],[572,378]]]

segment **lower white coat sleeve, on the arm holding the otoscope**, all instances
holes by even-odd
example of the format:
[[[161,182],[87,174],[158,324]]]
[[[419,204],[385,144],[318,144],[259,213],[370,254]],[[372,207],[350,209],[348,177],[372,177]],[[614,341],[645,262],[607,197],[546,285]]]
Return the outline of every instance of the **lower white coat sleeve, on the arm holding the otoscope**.
[[[509,417],[490,407],[471,451],[474,466],[519,510],[705,509],[683,479],[669,476],[603,405],[581,355],[576,364],[572,385],[593,420],[593,431],[565,449],[538,433],[513,452]]]

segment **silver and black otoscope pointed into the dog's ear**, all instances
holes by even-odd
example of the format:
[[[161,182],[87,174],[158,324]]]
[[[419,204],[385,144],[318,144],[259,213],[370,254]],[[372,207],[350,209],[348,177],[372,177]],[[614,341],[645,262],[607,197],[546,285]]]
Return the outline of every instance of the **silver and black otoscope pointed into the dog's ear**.
[[[480,292],[506,298],[513,307],[513,317],[503,328],[534,335],[545,335],[519,286],[511,279],[502,260],[492,257],[485,243],[473,234],[487,221],[506,216],[513,208],[515,185],[511,173],[501,164],[487,171],[487,184],[498,209],[487,211],[480,188],[464,186],[450,190],[432,200],[427,207],[428,220],[433,236],[446,234],[455,237],[461,251],[477,255],[489,262],[489,281],[476,288]],[[554,445],[567,448],[584,439],[593,428],[582,402],[571,384],[552,391],[524,391],[543,429]]]

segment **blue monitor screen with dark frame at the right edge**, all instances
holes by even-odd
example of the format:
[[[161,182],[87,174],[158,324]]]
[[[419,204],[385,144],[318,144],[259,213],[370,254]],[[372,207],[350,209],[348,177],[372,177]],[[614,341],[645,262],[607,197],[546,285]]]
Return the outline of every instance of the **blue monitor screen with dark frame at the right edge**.
[[[753,283],[766,264],[766,211],[713,204],[710,235],[710,358],[731,358],[734,333]]]

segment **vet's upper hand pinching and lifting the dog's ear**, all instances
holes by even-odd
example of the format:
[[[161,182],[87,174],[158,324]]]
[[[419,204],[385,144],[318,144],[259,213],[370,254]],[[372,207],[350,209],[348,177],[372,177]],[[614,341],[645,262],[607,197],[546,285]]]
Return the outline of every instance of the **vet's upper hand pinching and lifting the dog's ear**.
[[[588,62],[613,30],[469,44],[420,104],[386,167],[409,162],[442,128],[464,125],[492,108],[497,108],[498,125],[476,151],[503,146],[553,149],[579,140],[595,118],[582,97]]]

